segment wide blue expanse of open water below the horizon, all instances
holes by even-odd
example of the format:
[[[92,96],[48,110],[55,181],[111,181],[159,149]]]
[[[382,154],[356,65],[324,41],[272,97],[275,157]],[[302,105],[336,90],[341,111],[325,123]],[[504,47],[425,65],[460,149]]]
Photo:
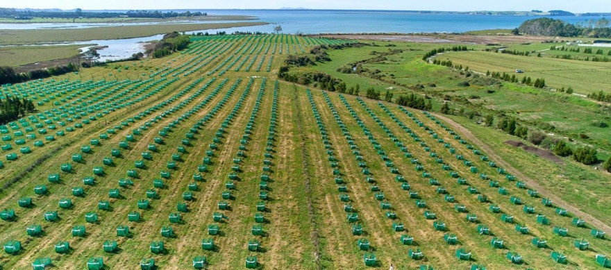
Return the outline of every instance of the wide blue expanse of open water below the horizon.
[[[232,28],[233,31],[271,33],[280,24],[283,33],[461,33],[516,28],[540,16],[431,14],[390,10],[201,10],[208,15],[251,15],[274,25]],[[571,24],[601,17],[551,17]],[[214,31],[214,30],[213,30]],[[212,31],[209,31],[212,33]]]

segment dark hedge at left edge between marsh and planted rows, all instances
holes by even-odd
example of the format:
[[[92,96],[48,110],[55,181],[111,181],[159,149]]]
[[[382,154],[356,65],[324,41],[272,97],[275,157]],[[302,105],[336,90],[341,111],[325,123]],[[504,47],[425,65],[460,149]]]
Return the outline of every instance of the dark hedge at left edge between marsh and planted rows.
[[[49,67],[46,69],[33,69],[23,73],[16,73],[15,69],[12,69],[12,67],[0,67],[0,85],[7,83],[23,83],[39,78],[49,78],[51,76],[67,74],[72,71],[78,71],[78,66],[72,64],[72,62],[68,63],[68,65]]]

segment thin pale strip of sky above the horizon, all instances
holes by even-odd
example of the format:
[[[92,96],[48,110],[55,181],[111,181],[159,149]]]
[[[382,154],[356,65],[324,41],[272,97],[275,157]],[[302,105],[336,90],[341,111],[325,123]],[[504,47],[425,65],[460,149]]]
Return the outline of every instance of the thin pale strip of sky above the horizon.
[[[20,0],[3,1],[3,8],[103,9],[372,9],[372,10],[568,10],[611,12],[611,0]]]

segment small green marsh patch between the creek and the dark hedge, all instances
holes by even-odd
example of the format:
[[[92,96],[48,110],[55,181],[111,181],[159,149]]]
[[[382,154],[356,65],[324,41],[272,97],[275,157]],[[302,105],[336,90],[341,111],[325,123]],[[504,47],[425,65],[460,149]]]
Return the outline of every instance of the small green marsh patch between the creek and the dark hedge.
[[[78,55],[78,48],[85,46],[87,45],[1,47],[0,65],[17,67],[35,62],[71,58]]]

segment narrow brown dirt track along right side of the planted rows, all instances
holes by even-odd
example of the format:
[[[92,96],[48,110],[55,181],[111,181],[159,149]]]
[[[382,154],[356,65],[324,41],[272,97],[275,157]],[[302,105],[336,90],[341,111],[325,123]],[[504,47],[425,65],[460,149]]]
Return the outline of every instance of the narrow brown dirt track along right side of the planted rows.
[[[563,201],[562,199],[560,199],[560,197],[556,196],[552,192],[549,192],[549,190],[547,190],[544,187],[542,187],[541,185],[539,185],[539,183],[537,183],[537,181],[529,178],[528,176],[526,176],[526,174],[523,174],[521,171],[515,169],[510,164],[505,162],[499,155],[496,155],[496,152],[494,152],[490,146],[488,146],[487,144],[485,144],[482,141],[480,141],[476,136],[474,136],[471,133],[471,131],[469,131],[467,128],[464,128],[464,126],[461,126],[460,124],[456,123],[452,119],[449,119],[448,117],[444,117],[443,115],[439,115],[437,113],[431,113],[431,115],[434,115],[435,117],[437,117],[439,119],[443,119],[444,121],[446,121],[447,124],[449,124],[455,130],[458,130],[460,133],[462,133],[462,135],[464,135],[464,137],[467,137],[467,139],[471,140],[471,142],[473,142],[474,144],[477,144],[478,146],[480,146],[482,148],[482,150],[485,151],[485,153],[487,155],[489,155],[490,158],[495,160],[497,163],[501,164],[503,167],[505,167],[505,169],[508,169],[508,171],[512,171],[512,173],[515,176],[517,176],[521,180],[524,180],[524,183],[526,183],[526,185],[528,185],[529,187],[532,187],[532,189],[537,190],[537,192],[539,192],[539,194],[541,194],[542,196],[545,196],[545,197],[551,199],[554,202],[555,205],[558,205],[558,206],[560,206],[562,208],[567,209],[570,213],[575,214],[577,217],[580,217],[581,219],[585,220],[588,223],[591,223],[592,226],[594,226],[596,228],[599,228],[599,230],[603,230],[605,232],[610,232],[611,231],[611,226],[609,226],[608,224],[606,224],[603,221],[600,221],[599,219],[596,219],[595,217],[592,217],[591,215],[589,215],[589,214],[579,210],[574,205],[571,205],[571,204],[567,203],[566,201]]]

